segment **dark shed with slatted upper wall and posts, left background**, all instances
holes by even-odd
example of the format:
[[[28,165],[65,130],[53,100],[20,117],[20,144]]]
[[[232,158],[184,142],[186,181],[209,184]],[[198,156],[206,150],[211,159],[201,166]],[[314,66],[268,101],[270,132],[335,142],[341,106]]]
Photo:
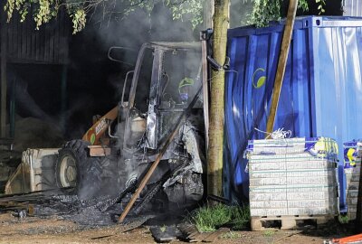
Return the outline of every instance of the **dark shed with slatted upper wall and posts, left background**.
[[[0,7],[3,9],[3,4],[1,4]],[[7,111],[6,86],[9,84],[9,82],[6,82],[6,64],[25,63],[62,65],[64,70],[62,73],[62,82],[66,82],[66,65],[69,57],[71,22],[65,11],[60,11],[54,20],[50,23],[43,24],[39,30],[35,30],[35,23],[30,15],[22,23],[20,22],[19,14],[14,14],[12,20],[7,23],[6,13],[4,11],[0,11],[0,13],[0,137],[6,137],[8,136],[5,135]],[[62,90],[62,92],[65,93],[65,89]],[[11,113],[12,111],[10,111],[10,114]],[[10,116],[10,120],[12,120],[11,117],[12,116]],[[14,121],[10,121],[10,127],[12,127],[12,123],[14,127]]]

